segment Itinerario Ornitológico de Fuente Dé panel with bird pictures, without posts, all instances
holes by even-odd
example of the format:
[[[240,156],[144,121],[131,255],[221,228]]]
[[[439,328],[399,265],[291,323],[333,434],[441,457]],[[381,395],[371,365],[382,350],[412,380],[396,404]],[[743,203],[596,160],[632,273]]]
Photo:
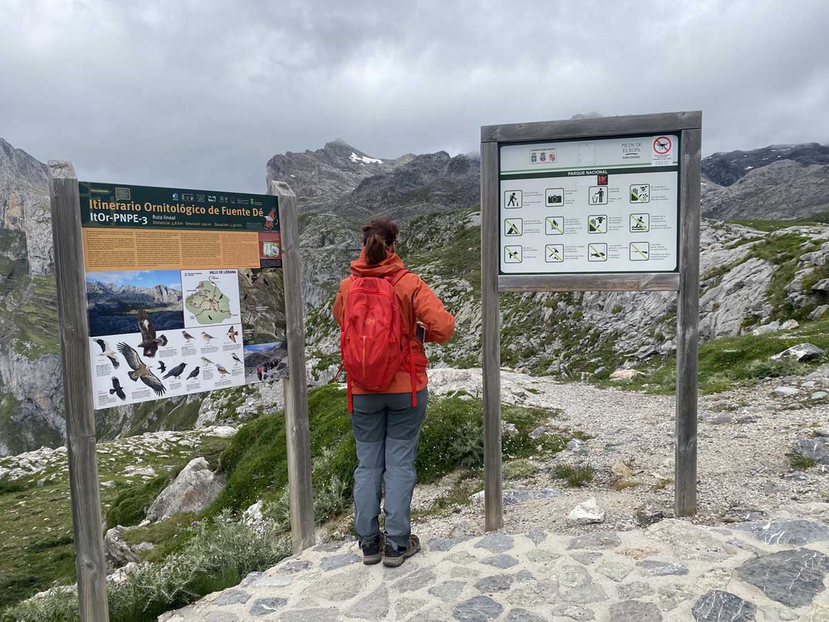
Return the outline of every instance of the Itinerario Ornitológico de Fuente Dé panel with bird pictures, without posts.
[[[95,408],[287,377],[276,197],[79,190]]]

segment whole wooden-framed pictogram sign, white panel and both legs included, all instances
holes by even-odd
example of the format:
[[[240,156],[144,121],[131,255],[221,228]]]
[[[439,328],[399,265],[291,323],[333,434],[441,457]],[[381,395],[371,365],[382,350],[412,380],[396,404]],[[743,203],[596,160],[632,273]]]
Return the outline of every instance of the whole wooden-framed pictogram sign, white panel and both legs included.
[[[503,291],[678,291],[677,516],[696,513],[701,112],[481,128],[484,500],[502,527]]]

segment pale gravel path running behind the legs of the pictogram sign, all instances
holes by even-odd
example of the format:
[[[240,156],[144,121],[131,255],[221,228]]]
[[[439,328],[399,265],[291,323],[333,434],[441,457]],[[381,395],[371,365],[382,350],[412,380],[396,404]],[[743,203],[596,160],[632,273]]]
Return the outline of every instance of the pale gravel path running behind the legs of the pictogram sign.
[[[692,520],[721,524],[746,518],[771,517],[792,503],[829,501],[829,474],[821,467],[794,471],[788,452],[794,441],[829,428],[826,398],[812,394],[829,386],[829,367],[811,377],[777,379],[757,386],[702,396],[700,401],[698,508]],[[480,370],[438,369],[431,372],[434,393],[463,389],[480,391]],[[774,397],[782,385],[797,388],[794,396]],[[804,386],[805,385],[805,386]],[[472,391],[470,391],[472,387]],[[517,503],[505,503],[504,527],[522,532],[532,528],[568,534],[601,529],[628,530],[672,516],[673,508],[673,396],[602,389],[582,383],[557,383],[543,377],[502,372],[502,398],[507,403],[544,406],[562,411],[550,420],[557,426],[580,430],[592,438],[576,450],[565,450],[551,461],[538,461],[530,479],[505,481],[505,490],[524,497],[555,494]],[[593,481],[583,488],[567,488],[554,479],[555,464],[590,464]],[[622,464],[632,473],[615,465]],[[825,467],[823,468],[825,469]],[[415,507],[428,508],[451,484],[415,490]],[[545,488],[552,492],[542,492]],[[605,510],[600,525],[574,525],[567,515],[577,504],[595,498]],[[448,518],[427,518],[416,525],[427,537],[482,533],[483,503],[455,508]]]

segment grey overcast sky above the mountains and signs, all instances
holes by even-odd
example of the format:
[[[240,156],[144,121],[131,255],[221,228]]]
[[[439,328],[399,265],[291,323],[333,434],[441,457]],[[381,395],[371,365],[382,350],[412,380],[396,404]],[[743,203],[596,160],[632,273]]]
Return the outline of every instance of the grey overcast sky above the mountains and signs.
[[[702,109],[703,153],[829,142],[829,2],[0,0],[0,136],[79,177],[264,192],[274,153]]]

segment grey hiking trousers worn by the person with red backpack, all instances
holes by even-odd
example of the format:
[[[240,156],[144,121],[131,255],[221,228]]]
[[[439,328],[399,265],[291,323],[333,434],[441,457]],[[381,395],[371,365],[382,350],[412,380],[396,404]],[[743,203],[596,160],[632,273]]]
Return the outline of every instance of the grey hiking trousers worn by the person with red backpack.
[[[385,534],[395,550],[409,546],[411,501],[417,474],[414,458],[429,390],[353,396],[351,428],[359,465],[354,471],[354,531],[361,541],[380,534],[380,500],[385,481]]]

